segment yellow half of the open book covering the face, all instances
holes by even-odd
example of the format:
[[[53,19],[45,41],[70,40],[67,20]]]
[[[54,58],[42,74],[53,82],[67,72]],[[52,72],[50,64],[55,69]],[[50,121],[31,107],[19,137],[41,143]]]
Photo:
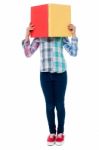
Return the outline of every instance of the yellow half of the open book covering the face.
[[[68,25],[71,23],[71,6],[60,4],[48,5],[49,37],[71,36]]]

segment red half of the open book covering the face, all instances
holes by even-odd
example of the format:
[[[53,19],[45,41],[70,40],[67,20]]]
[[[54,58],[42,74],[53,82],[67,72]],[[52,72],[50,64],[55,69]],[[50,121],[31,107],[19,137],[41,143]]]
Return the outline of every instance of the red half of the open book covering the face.
[[[35,26],[31,37],[48,37],[48,4],[31,7],[31,23]]]

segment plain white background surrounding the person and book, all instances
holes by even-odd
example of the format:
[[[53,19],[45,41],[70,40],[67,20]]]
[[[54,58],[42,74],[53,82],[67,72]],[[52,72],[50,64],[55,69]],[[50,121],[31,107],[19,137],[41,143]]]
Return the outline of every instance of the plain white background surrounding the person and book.
[[[64,50],[68,65],[65,144],[48,147],[45,101],[40,87],[38,51],[26,58],[21,46],[30,6],[72,6],[79,38],[78,56]],[[0,1],[0,150],[99,150],[98,0]]]

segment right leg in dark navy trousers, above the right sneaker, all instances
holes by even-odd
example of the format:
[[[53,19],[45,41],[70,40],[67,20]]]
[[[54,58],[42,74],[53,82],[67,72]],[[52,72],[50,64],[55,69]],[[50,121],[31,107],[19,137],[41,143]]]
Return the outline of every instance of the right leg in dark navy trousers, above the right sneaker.
[[[65,99],[66,85],[67,85],[67,72],[56,74],[54,80],[54,99],[58,117],[58,129],[57,129],[58,134],[64,132],[64,122],[65,122],[64,99]]]

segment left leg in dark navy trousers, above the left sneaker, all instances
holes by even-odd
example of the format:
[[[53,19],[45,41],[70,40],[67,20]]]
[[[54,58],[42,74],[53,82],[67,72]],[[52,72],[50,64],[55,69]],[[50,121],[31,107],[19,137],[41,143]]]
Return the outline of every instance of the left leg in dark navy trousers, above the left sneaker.
[[[40,73],[41,87],[44,93],[46,102],[46,114],[50,133],[56,133],[55,127],[55,102],[53,99],[53,81],[50,79],[49,72]]]

